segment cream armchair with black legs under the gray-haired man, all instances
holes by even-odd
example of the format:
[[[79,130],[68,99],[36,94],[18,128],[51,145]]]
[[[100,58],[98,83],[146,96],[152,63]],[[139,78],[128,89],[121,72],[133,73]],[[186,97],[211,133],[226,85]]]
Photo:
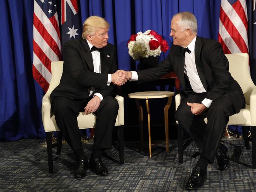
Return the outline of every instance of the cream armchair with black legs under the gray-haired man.
[[[246,106],[241,109],[239,113],[230,116],[228,125],[239,125],[243,129],[243,138],[245,141],[245,146],[250,149],[248,135],[246,133],[246,127],[250,126],[252,130],[252,168],[256,168],[256,86],[250,78],[249,71],[249,55],[246,53],[242,54],[226,54],[229,61],[229,72],[232,77],[241,86],[244,96]],[[175,96],[175,106],[176,110],[180,105],[180,94]],[[205,119],[207,123],[207,118]],[[178,122],[177,122],[178,123]],[[186,148],[187,144],[185,144]],[[183,130],[178,127],[178,153],[179,162],[183,163]]]

